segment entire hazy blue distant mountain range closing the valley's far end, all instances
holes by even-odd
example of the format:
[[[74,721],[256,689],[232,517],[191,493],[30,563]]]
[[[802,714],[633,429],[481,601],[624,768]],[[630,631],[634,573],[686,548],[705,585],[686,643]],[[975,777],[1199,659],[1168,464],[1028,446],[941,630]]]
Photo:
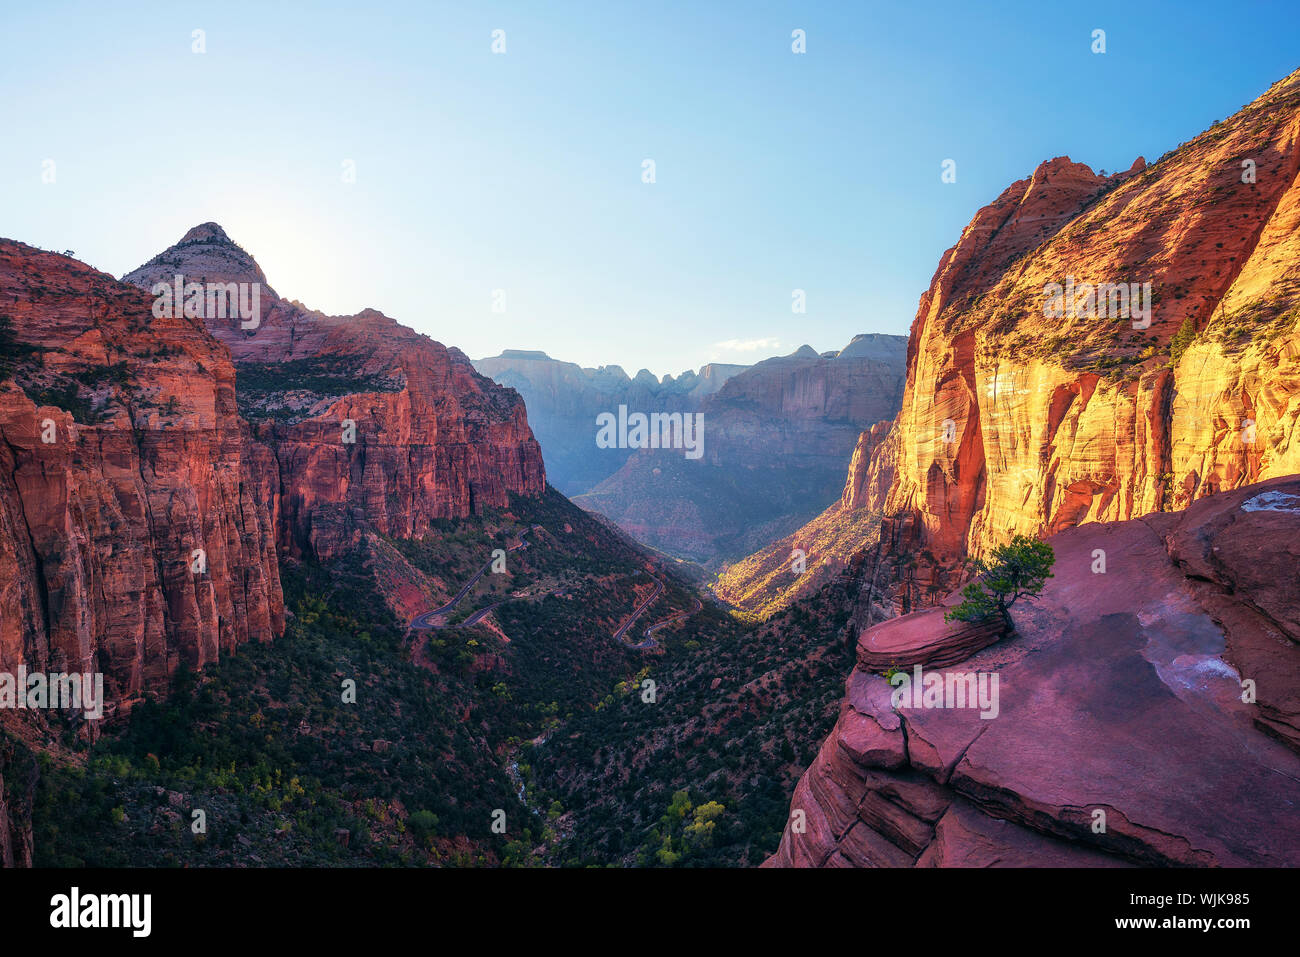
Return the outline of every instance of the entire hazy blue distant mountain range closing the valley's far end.
[[[858,437],[892,419],[906,338],[857,335],[842,350],[802,346],[750,367],[705,365],[662,381],[642,369],[582,369],[507,351],[474,368],[516,389],[556,488],[642,542],[718,564],[788,534],[835,502]],[[597,416],[698,412],[703,455],[599,449]]]

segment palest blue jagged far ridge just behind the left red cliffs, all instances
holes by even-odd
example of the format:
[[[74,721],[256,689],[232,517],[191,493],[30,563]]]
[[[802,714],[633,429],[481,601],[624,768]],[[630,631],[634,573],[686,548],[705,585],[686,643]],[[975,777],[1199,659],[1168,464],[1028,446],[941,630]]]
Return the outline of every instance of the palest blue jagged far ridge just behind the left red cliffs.
[[[619,406],[633,412],[694,412],[706,395],[746,368],[710,363],[698,372],[660,381],[647,369],[629,377],[619,365],[585,369],[546,352],[517,348],[474,361],[474,369],[524,397],[547,478],[566,495],[590,492],[628,460],[627,449],[597,447],[598,415],[616,413]]]

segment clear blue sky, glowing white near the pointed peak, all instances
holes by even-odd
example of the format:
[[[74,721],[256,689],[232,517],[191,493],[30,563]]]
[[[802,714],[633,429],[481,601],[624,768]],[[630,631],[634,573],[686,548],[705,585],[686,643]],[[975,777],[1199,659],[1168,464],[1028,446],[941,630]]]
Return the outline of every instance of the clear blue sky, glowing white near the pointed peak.
[[[282,295],[473,358],[838,348],[905,334],[1041,160],[1153,160],[1297,36],[1295,3],[5,3],[0,235],[121,276],[214,220]]]

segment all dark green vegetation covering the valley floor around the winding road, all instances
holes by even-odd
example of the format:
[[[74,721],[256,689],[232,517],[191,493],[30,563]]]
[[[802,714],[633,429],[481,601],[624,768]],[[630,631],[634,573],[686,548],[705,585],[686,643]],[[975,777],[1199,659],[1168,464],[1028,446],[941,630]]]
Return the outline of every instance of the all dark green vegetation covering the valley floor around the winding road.
[[[450,586],[532,525],[508,573],[465,599],[506,597],[494,618],[508,640],[447,627],[412,645],[374,553],[286,560],[281,638],[179,672],[94,745],[69,726],[64,749],[40,758],[36,863],[760,862],[835,723],[853,586],[832,583],[759,625],[706,603],[640,651],[611,636],[633,588],[651,585],[645,555],[558,493],[395,545]],[[637,640],[697,607],[692,589],[655,575],[664,594]],[[521,581],[529,597],[510,598]],[[491,831],[495,809],[506,833]]]

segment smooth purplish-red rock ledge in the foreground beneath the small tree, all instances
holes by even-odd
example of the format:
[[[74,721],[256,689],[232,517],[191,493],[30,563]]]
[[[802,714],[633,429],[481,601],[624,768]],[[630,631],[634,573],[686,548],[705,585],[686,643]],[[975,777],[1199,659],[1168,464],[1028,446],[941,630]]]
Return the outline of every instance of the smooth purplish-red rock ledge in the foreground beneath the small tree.
[[[992,716],[894,707],[861,663],[900,625],[888,644],[941,648],[937,610],[859,637],[766,866],[1300,863],[1300,477],[1049,541],[1015,636],[933,666],[997,675]]]

